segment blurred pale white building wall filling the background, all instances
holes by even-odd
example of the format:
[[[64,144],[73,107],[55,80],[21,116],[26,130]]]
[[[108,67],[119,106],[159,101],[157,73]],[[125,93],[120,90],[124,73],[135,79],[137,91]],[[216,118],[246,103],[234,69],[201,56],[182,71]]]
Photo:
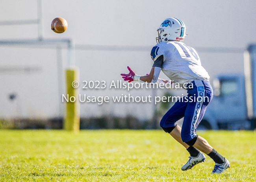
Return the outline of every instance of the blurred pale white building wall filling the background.
[[[254,0],[184,2],[178,0],[124,1],[124,0],[43,0],[43,32],[45,38],[70,38],[76,45],[134,45],[148,46],[147,51],[76,50],[76,66],[83,80],[120,80],[127,66],[139,75],[149,73],[152,67],[150,47],[153,47],[156,29],[167,17],[180,18],[187,27],[185,44],[194,47],[236,47],[245,49],[256,42]],[[55,17],[63,17],[69,26],[65,33],[50,29]],[[35,0],[0,2],[0,22],[37,18]],[[37,25],[0,25],[0,40],[35,39]],[[36,47],[36,46],[35,46]],[[63,115],[60,93],[65,93],[64,72],[58,75],[57,51],[54,47],[20,47],[0,45],[0,118],[53,118]],[[198,51],[202,65],[211,78],[224,73],[243,74],[243,53]],[[67,50],[61,52],[62,67],[67,67]],[[7,71],[8,69],[16,71]],[[35,71],[17,71],[33,68]],[[162,78],[166,78],[161,75]],[[59,82],[59,79],[62,82]],[[212,81],[212,79],[211,79]],[[59,84],[62,90],[59,91]],[[161,96],[164,91],[158,90]],[[15,93],[17,98],[9,100]],[[81,94],[90,96],[152,95],[152,90],[91,89],[80,87]],[[174,91],[174,95],[183,92]],[[153,106],[147,104],[95,103],[81,104],[81,117],[102,115],[137,115],[152,117]]]

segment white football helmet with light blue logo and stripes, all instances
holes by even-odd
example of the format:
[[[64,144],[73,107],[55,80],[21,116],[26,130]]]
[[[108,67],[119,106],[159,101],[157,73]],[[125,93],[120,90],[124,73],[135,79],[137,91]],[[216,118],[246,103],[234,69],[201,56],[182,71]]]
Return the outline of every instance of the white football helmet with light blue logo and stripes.
[[[178,18],[167,18],[157,29],[157,44],[168,40],[184,40],[186,33],[185,24]]]

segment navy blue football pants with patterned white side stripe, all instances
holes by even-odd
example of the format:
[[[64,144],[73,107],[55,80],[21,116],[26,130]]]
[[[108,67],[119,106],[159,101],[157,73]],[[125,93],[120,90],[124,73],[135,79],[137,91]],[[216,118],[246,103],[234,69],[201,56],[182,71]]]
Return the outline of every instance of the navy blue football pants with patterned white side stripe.
[[[188,95],[177,100],[160,122],[161,127],[173,127],[184,117],[181,130],[183,142],[188,142],[197,135],[197,126],[213,98],[210,82],[195,80],[191,84],[193,88],[187,89]]]

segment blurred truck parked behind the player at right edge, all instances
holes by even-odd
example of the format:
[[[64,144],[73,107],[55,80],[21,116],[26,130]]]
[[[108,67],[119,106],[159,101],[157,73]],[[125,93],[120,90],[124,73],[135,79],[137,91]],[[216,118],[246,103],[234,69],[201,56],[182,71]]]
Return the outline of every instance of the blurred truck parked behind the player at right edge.
[[[254,129],[256,127],[256,44],[244,52],[244,75],[219,75],[214,97],[198,129]]]

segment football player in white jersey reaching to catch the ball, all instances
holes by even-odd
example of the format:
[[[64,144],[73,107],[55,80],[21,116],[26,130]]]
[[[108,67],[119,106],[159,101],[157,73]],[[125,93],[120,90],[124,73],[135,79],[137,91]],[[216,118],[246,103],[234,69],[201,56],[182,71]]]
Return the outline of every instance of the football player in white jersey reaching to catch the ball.
[[[229,167],[229,161],[213,149],[206,139],[196,133],[197,126],[213,98],[210,76],[201,66],[195,49],[181,42],[186,35],[186,26],[181,20],[167,18],[157,31],[158,44],[151,51],[154,64],[150,74],[139,76],[128,67],[129,73],[121,74],[122,78],[128,82],[158,82],[158,84],[171,82],[187,89],[188,95],[175,102],[161,119],[160,126],[189,152],[189,160],[181,168],[183,171],[204,162],[206,157],[203,153],[205,153],[215,162],[212,173],[223,173]],[[160,71],[163,71],[171,80],[158,78]],[[184,121],[180,127],[176,122],[183,117]]]

